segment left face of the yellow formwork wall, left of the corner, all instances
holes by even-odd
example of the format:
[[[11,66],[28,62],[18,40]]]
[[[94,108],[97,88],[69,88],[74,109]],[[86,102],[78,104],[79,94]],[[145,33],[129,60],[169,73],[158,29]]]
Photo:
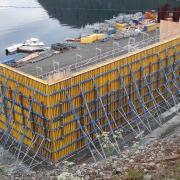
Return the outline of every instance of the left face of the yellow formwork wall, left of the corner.
[[[44,141],[43,124],[48,116],[47,83],[0,65],[0,101],[0,128],[5,130],[3,145],[8,146],[14,137],[18,147],[24,145],[36,151],[43,141],[40,153],[50,157],[46,147],[51,140]],[[36,143],[32,144],[34,138]]]

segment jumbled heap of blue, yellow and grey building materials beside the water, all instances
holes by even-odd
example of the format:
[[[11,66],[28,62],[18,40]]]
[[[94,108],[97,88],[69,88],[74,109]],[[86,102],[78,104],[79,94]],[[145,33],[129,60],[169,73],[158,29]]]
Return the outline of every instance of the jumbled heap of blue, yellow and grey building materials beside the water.
[[[88,33],[88,35],[82,35],[80,43],[91,44],[96,41],[104,42],[104,39],[114,38],[118,40],[121,38],[135,37],[143,31],[151,32],[158,28],[157,16],[153,11],[148,11],[145,14],[142,12],[119,14],[117,17],[105,20],[104,23],[86,25],[84,32],[86,32],[86,34]],[[97,36],[100,36],[100,38],[97,38]]]

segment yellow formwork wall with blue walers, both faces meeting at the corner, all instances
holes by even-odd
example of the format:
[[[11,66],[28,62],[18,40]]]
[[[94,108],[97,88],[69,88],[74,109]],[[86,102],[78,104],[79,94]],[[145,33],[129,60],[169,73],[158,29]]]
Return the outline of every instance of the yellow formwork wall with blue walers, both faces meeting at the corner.
[[[38,141],[31,148],[53,162],[69,157],[87,145],[82,131],[95,139],[93,121],[105,131],[109,130],[109,122],[113,128],[119,127],[124,123],[119,108],[123,108],[129,120],[133,119],[130,102],[143,114],[134,79],[148,108],[153,103],[147,81],[157,102],[162,99],[156,96],[156,89],[168,98],[163,74],[172,80],[174,70],[179,82],[179,52],[180,37],[177,37],[53,83],[1,65],[0,127],[18,143],[30,147],[37,136]]]

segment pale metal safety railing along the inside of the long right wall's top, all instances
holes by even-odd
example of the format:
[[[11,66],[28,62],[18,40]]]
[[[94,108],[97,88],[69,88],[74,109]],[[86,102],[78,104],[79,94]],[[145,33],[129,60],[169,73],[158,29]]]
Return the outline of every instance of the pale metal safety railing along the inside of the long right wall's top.
[[[166,37],[169,37],[171,35],[170,32],[165,33]],[[105,53],[100,53],[92,58],[89,59],[83,59],[82,61],[79,61],[74,64],[64,66],[57,69],[54,68],[54,70],[41,74],[38,76],[38,78],[41,79],[47,79],[48,77],[55,75],[57,73],[62,73],[64,77],[67,75],[77,72],[79,70],[82,70],[83,68],[87,68],[89,66],[99,64],[102,62],[105,62],[109,59],[119,57],[124,54],[129,54],[132,53],[138,49],[141,49],[142,47],[147,47],[149,45],[152,45],[154,43],[157,43],[160,41],[160,34],[159,32],[156,33],[156,35],[149,37],[149,34],[146,34],[147,38],[144,37],[143,34],[143,40],[135,41],[135,38],[129,38],[128,44],[126,46],[118,46],[117,48],[113,47],[113,50],[107,51]]]

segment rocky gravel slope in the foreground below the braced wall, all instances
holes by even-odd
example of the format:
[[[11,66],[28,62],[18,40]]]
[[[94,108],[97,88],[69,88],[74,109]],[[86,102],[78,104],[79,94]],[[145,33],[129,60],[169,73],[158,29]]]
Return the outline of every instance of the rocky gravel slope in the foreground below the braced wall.
[[[63,172],[62,172],[63,170]],[[66,162],[55,169],[7,174],[0,167],[0,179],[22,180],[178,180],[180,179],[180,116],[175,116],[163,127],[118,156],[98,163],[73,165]]]

